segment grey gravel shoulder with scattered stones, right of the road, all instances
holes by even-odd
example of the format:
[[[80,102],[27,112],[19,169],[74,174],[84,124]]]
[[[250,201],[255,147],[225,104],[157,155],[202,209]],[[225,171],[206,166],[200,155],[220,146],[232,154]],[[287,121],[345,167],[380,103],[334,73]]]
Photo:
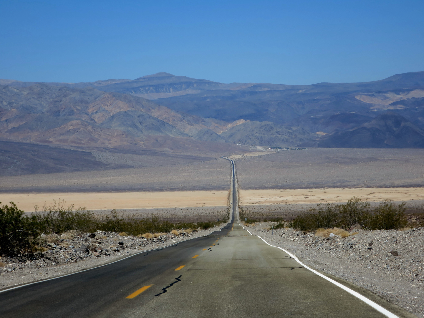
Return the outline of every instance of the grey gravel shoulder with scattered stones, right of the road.
[[[424,317],[424,228],[406,231],[355,230],[346,238],[323,238],[293,228],[274,230],[260,222],[246,228],[287,249],[313,268],[363,287]]]

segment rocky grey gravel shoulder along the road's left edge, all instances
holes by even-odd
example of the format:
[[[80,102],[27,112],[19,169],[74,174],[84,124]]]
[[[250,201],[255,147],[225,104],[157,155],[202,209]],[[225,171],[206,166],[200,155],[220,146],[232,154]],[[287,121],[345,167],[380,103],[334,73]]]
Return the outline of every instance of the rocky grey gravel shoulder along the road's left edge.
[[[166,234],[152,239],[119,236],[116,232],[101,231],[95,232],[95,237],[89,237],[91,233],[77,234],[73,238],[65,234],[63,237],[58,237],[59,241],[63,240],[62,242],[56,244],[48,242],[47,246],[50,249],[47,251],[23,257],[2,257],[0,259],[0,290],[83,271],[142,251],[164,248],[219,231],[222,226],[224,224],[207,230],[184,233],[184,237],[182,234],[178,236]],[[82,245],[85,245],[88,251],[80,251],[83,249]],[[94,250],[96,252],[93,252]]]

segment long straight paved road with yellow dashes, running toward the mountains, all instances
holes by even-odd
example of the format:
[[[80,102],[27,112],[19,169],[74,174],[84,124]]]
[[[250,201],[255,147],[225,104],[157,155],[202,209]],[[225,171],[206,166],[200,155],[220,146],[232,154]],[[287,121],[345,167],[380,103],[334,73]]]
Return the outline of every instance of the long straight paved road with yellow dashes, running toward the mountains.
[[[234,186],[234,169],[232,179]],[[386,317],[237,219],[206,237],[0,293],[0,317],[8,318],[282,316]]]

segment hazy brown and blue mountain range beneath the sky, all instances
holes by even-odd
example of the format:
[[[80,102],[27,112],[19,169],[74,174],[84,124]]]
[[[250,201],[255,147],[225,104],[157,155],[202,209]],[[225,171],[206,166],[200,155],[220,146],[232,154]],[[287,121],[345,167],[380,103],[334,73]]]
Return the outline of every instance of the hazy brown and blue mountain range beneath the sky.
[[[0,80],[0,139],[170,150],[424,148],[424,72],[363,83]]]

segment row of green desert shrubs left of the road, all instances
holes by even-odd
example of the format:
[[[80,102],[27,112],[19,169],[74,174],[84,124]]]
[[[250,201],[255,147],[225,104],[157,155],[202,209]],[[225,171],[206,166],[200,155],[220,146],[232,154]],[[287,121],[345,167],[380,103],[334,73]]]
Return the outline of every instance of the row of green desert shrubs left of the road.
[[[226,223],[229,220],[229,210],[220,221],[197,223],[171,223],[152,216],[144,219],[123,219],[118,217],[116,210],[109,215],[96,217],[93,212],[85,209],[74,210],[71,205],[64,207],[64,201],[53,206],[44,206],[40,213],[30,217],[11,202],[10,206],[0,207],[0,255],[15,255],[33,252],[41,242],[40,234],[47,234],[50,241],[58,240],[58,235],[75,235],[77,232],[120,232],[121,235],[138,235],[145,233],[169,233],[174,229],[186,229],[185,232],[201,228],[209,229]],[[1,203],[1,202],[0,202]],[[38,212],[38,211],[36,211]]]

